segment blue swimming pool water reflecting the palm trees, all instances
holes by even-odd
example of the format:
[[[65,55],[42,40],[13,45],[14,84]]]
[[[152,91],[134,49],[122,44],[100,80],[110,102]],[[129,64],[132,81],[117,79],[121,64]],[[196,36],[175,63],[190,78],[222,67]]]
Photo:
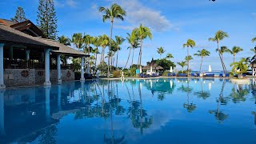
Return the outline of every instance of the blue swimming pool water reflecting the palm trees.
[[[0,92],[0,143],[256,143],[256,86],[218,78]]]

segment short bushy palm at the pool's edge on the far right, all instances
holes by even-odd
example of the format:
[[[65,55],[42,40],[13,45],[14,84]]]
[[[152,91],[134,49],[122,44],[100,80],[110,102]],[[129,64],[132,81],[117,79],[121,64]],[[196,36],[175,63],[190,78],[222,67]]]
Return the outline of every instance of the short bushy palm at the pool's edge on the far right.
[[[248,69],[246,58],[241,58],[239,62],[233,62],[230,66],[233,66],[232,71],[238,73],[239,78],[242,78],[242,74]]]

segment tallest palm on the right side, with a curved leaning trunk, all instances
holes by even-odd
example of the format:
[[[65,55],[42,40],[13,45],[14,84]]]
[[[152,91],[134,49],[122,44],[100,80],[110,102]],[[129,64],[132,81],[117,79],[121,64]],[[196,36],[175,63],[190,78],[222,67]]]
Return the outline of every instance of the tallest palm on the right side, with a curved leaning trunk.
[[[220,58],[220,60],[221,60],[221,62],[222,62],[222,68],[223,68],[223,71],[224,71],[224,73],[226,74],[226,67],[225,67],[225,64],[224,64],[224,62],[223,62],[223,58],[222,58],[222,55],[220,54],[220,50],[219,50],[219,42],[220,41],[222,41],[224,38],[228,38],[229,37],[229,35],[226,33],[226,32],[224,32],[224,31],[222,31],[222,30],[218,30],[217,32],[216,32],[216,34],[214,35],[214,38],[208,38],[208,40],[210,41],[210,42],[217,42],[217,50],[216,51],[218,51],[218,56],[219,56],[219,58]]]

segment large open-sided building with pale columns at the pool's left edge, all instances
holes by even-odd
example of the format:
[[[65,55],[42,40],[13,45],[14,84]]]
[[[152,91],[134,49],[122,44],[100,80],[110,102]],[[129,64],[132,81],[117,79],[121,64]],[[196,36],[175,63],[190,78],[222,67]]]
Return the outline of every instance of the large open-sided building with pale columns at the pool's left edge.
[[[61,55],[82,58],[90,55],[57,41],[46,39],[30,20],[12,22],[0,19],[0,89],[10,86],[51,85],[51,82],[74,80],[74,66]]]

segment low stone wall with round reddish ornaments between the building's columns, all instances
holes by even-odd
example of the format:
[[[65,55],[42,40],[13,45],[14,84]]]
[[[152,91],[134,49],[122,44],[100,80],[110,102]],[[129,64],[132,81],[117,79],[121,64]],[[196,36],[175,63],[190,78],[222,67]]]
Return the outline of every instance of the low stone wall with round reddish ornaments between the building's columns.
[[[62,70],[62,82],[74,80],[74,71]],[[57,82],[57,70],[50,70],[50,81]],[[45,70],[5,69],[6,87],[42,85],[45,82]]]

